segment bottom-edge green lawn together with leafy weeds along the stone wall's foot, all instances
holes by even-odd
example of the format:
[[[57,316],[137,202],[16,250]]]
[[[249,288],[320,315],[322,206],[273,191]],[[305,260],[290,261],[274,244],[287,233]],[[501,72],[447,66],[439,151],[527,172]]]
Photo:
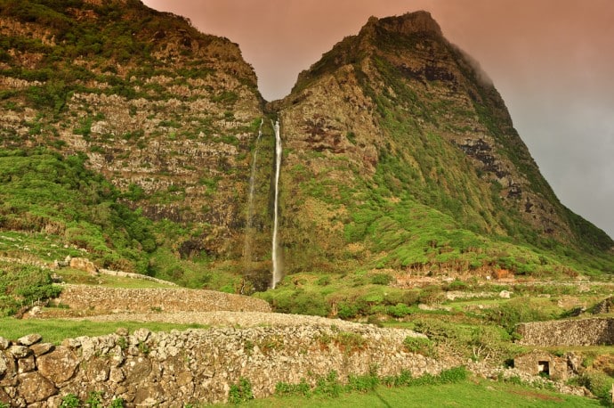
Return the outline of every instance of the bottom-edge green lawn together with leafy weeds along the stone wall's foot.
[[[462,369],[453,369],[442,372],[440,376],[426,376],[424,380],[401,374],[396,378],[397,384],[392,383],[392,378],[377,379],[367,374],[352,377],[345,386],[337,382],[336,388],[331,387],[336,377],[330,375],[330,379],[325,379],[319,385],[324,392],[310,391],[306,382],[296,385],[279,383],[276,386],[276,396],[249,401],[242,406],[602,406],[599,402],[582,396],[565,396],[550,390],[507,382],[465,379],[462,374]]]

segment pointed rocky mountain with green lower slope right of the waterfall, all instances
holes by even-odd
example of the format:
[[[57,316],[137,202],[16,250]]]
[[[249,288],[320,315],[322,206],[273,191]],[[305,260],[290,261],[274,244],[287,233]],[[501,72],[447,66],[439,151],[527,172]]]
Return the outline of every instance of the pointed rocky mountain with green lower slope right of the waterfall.
[[[288,150],[282,181],[290,270],[312,266],[305,254],[364,260],[376,251],[397,253],[380,265],[496,264],[495,254],[448,262],[446,253],[481,254],[478,236],[611,247],[605,233],[561,205],[489,78],[442,37],[428,12],[371,18],[270,107],[282,117]],[[387,211],[389,221],[372,214]],[[430,221],[408,221],[424,211]],[[432,236],[446,241],[424,241],[412,254],[400,249],[435,224],[448,233]],[[464,238],[450,238],[454,230]]]

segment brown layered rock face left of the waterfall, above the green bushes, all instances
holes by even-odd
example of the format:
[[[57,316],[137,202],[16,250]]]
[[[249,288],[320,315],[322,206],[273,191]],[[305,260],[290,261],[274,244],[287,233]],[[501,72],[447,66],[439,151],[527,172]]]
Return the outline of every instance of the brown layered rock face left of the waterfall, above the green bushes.
[[[133,208],[198,223],[187,252],[231,248],[262,116],[238,45],[138,1],[4,3],[3,145],[85,152]]]

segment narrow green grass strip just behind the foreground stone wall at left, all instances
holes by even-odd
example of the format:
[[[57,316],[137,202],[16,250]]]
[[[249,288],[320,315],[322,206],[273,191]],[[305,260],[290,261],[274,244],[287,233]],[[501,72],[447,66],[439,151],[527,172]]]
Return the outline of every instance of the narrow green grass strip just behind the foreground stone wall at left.
[[[0,318],[0,336],[5,339],[19,339],[27,334],[38,333],[43,336],[43,341],[53,344],[60,344],[63,339],[72,339],[79,336],[92,337],[114,333],[119,327],[125,327],[132,332],[141,328],[147,328],[151,331],[170,331],[173,329],[206,329],[208,326],[162,322],[90,322],[87,320]]]

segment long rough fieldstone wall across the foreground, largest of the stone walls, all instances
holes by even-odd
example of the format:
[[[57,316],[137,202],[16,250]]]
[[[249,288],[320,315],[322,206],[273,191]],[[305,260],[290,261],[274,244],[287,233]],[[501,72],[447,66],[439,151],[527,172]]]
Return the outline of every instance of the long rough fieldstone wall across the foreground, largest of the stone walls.
[[[61,346],[30,335],[0,338],[0,402],[15,407],[58,407],[71,393],[85,400],[102,392],[103,403],[121,397],[126,407],[182,406],[227,401],[230,386],[249,379],[255,397],[271,395],[279,381],[312,385],[319,376],[375,369],[379,375],[409,370],[436,374],[457,362],[408,353],[411,330],[343,324],[247,329],[135,330],[128,335],[66,339]]]

